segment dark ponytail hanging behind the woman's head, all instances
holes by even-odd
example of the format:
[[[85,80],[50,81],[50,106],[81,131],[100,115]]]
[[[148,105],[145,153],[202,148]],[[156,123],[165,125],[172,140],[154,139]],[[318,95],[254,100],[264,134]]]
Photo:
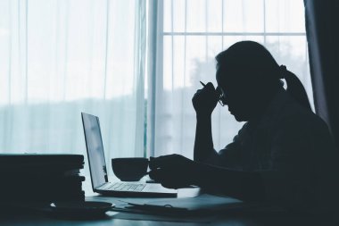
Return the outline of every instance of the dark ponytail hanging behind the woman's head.
[[[284,79],[287,83],[287,92],[289,92],[294,99],[303,107],[310,109],[310,101],[307,96],[305,88],[302,86],[302,82],[296,77],[296,75],[288,71],[285,65],[281,65],[280,67],[281,78]]]

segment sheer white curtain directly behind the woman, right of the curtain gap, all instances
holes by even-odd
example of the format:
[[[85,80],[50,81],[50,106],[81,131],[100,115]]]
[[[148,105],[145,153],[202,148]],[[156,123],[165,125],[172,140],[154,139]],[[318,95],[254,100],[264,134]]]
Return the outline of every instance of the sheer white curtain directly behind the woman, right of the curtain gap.
[[[148,108],[153,115],[148,126],[150,155],[193,157],[191,98],[202,88],[199,80],[217,85],[214,57],[237,41],[254,40],[266,46],[277,63],[299,76],[312,100],[302,0],[152,2],[156,13],[149,23],[153,38],[149,60],[155,62],[149,67],[148,83]],[[217,105],[212,114],[215,148],[231,142],[242,125],[227,106]]]

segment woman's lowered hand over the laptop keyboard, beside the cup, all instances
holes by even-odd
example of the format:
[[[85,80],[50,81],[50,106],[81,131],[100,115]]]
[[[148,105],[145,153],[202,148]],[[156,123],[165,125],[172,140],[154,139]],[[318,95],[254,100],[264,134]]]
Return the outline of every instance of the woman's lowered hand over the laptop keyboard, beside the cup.
[[[197,163],[182,155],[163,155],[150,158],[150,178],[166,188],[185,188],[193,185]]]

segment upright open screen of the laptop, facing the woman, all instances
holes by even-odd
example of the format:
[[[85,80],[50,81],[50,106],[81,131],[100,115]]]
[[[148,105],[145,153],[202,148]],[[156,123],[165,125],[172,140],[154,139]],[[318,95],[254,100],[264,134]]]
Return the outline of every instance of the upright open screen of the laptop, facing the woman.
[[[81,116],[92,185],[93,188],[97,188],[103,185],[103,183],[108,182],[99,118],[88,113],[81,113]]]

